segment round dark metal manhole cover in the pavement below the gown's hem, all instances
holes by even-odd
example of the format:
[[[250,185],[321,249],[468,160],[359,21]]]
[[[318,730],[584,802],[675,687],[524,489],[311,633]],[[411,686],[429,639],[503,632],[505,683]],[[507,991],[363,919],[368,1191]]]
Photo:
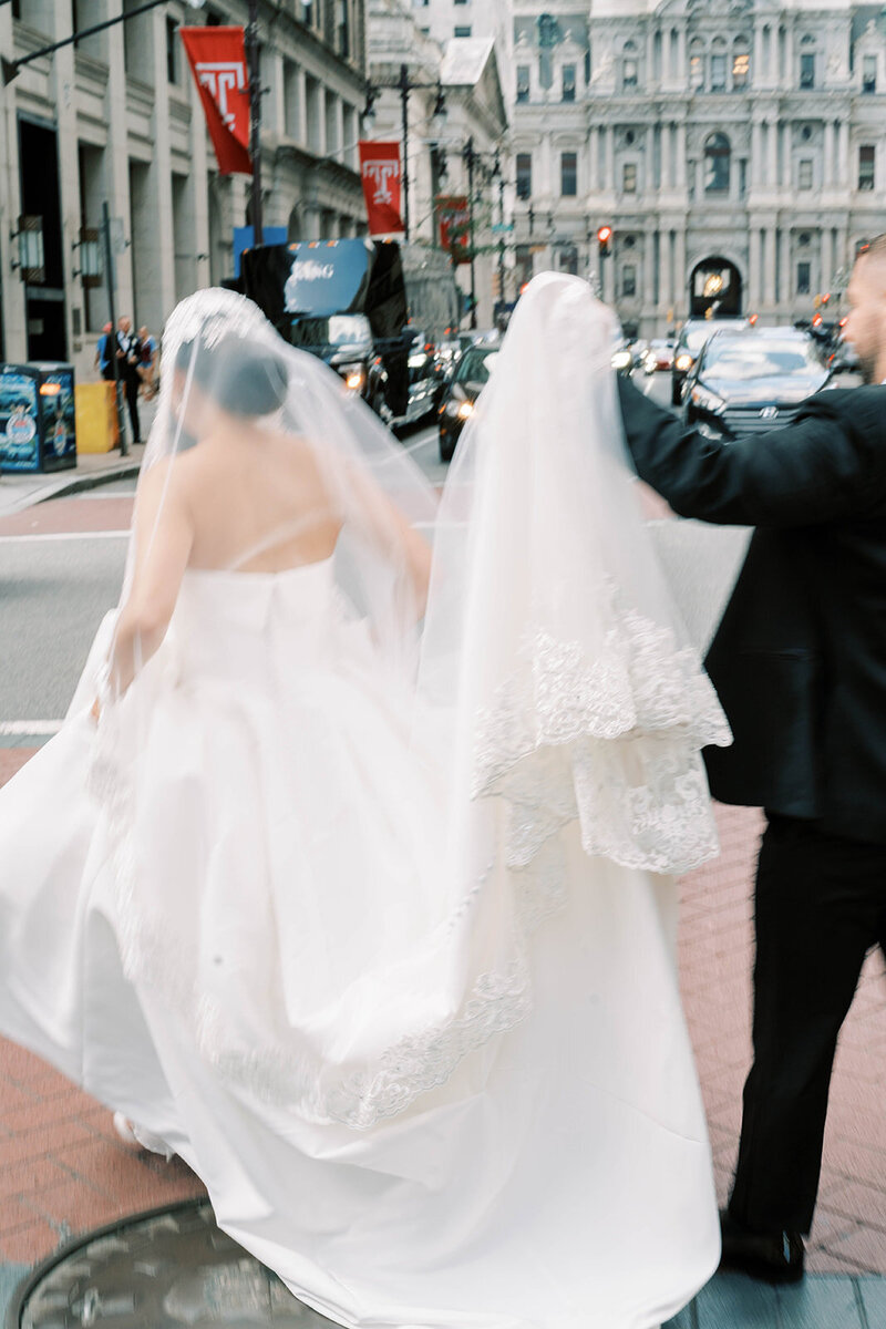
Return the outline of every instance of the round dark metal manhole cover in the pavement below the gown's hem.
[[[191,1201],[58,1252],[9,1308],[8,1329],[337,1329]]]

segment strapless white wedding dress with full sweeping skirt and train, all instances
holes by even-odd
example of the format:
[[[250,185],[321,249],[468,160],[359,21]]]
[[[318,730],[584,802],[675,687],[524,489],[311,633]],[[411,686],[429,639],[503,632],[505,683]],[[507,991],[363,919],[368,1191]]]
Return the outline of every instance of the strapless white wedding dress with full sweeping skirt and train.
[[[112,626],[61,734],[0,793],[0,1030],[166,1140],[219,1224],[343,1325],[648,1329],[676,1313],[716,1267],[719,1227],[672,877],[588,852],[592,791],[565,804],[545,744],[529,767],[502,766],[501,739],[490,756],[514,720],[499,692],[478,797],[510,799],[498,904],[477,906],[478,878],[441,913],[441,768],[417,759],[414,712],[336,558],[189,570],[163,645],[97,730]],[[660,704],[663,679],[681,686],[672,659],[630,615],[622,629],[606,641],[630,657],[631,704],[646,666]],[[570,661],[554,663],[557,692]],[[580,687],[562,686],[574,704]],[[610,742],[592,728],[551,739],[579,791]],[[534,773],[495,797],[514,769]],[[707,815],[695,766],[676,775]],[[527,793],[539,779],[547,800]],[[499,916],[517,944],[495,965],[482,932]]]

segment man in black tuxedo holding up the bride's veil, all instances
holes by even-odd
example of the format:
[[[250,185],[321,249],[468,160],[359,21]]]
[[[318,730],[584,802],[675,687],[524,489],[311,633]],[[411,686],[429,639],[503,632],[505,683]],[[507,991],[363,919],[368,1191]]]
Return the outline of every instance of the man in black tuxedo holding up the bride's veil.
[[[717,443],[618,380],[638,473],[683,517],[756,526],[707,668],[735,735],[724,803],[762,807],[753,1067],[724,1263],[802,1276],[840,1027],[886,949],[886,235],[858,258],[846,336],[865,387]]]

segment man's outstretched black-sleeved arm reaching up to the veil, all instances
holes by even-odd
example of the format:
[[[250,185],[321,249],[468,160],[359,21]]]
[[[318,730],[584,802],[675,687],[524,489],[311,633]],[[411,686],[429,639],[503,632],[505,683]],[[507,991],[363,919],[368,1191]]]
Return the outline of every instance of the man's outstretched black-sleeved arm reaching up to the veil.
[[[797,526],[859,516],[886,498],[886,388],[820,392],[792,424],[719,443],[618,379],[642,480],[681,517]]]

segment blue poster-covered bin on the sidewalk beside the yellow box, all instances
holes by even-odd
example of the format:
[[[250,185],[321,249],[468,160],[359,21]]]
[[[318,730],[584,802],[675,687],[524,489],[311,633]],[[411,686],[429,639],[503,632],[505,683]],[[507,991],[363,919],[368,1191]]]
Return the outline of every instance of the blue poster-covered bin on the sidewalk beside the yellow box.
[[[0,364],[0,470],[76,466],[76,428],[72,364]]]

